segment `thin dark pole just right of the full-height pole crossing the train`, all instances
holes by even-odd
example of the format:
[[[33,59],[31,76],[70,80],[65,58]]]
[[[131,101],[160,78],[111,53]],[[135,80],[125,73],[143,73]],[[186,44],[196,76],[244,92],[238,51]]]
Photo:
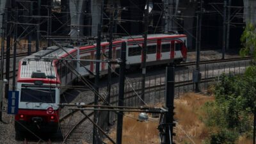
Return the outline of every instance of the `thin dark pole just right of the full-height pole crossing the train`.
[[[113,13],[111,13],[110,15],[110,28],[109,28],[109,49],[108,49],[108,59],[111,60],[112,59],[112,46],[113,46]],[[110,93],[111,93],[111,63],[108,63],[108,97],[107,97],[107,102],[110,104]],[[108,124],[110,124],[109,122],[109,112],[108,112]]]

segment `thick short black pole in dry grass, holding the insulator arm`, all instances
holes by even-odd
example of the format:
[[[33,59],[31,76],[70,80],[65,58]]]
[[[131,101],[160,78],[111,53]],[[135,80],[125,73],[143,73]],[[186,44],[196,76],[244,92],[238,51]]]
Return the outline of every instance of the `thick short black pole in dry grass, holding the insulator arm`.
[[[166,67],[166,108],[168,113],[164,118],[166,124],[164,133],[164,143],[173,143],[173,115],[174,115],[174,95],[175,95],[175,70],[174,66]]]

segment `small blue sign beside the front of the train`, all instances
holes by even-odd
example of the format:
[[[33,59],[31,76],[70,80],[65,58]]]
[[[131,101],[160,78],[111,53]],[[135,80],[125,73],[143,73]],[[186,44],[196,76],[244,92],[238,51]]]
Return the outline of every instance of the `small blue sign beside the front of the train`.
[[[19,109],[19,91],[8,92],[8,114],[15,115]]]

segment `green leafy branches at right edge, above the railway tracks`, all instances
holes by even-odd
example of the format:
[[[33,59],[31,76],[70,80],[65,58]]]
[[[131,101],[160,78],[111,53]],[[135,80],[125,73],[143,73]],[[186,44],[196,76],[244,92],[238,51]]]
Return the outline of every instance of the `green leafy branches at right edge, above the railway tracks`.
[[[246,28],[244,28],[244,32],[241,35],[241,42],[243,44],[243,48],[240,50],[241,56],[252,55],[256,58],[256,33],[255,26],[253,24],[248,24]]]

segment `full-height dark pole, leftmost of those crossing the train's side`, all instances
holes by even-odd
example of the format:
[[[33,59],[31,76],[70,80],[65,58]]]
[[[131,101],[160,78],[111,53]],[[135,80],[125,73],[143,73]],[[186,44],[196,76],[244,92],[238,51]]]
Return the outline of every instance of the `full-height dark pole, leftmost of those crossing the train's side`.
[[[100,22],[98,24],[98,28],[97,28],[97,49],[96,49],[96,60],[100,60],[100,42],[101,42],[101,26],[103,24],[103,7],[104,6],[104,0],[102,0],[101,3],[101,9],[100,9]],[[100,79],[100,62],[97,61],[96,65],[95,65],[95,72],[96,72],[96,76],[95,76],[95,95],[94,95],[94,104],[97,105],[98,101],[99,101],[99,79]],[[95,122],[95,124],[97,124],[97,118],[98,118],[98,111],[94,111],[94,117],[93,117],[93,121]],[[98,144],[99,140],[98,140],[98,134],[97,134],[97,127],[95,125],[93,125],[93,144]]]

